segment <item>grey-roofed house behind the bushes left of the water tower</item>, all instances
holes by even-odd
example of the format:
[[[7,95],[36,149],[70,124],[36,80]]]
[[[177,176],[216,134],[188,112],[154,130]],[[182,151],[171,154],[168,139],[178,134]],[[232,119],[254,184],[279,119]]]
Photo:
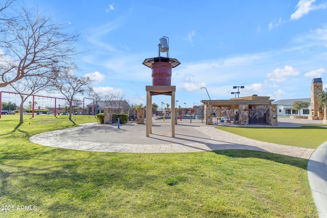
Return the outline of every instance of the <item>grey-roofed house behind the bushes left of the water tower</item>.
[[[96,102],[95,102],[96,104]],[[126,101],[98,101],[95,105],[96,114],[104,113],[104,109],[112,109],[112,113],[124,113],[129,114],[129,110],[131,106]],[[93,111],[93,103],[88,104],[85,109],[85,114],[92,114]]]

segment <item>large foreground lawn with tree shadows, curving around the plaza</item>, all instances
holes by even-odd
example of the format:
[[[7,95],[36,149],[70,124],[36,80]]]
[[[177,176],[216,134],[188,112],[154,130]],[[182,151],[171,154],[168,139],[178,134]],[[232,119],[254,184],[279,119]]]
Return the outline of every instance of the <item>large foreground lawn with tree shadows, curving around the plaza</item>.
[[[3,115],[0,206],[14,210],[0,217],[318,217],[306,159],[245,150],[83,152],[29,141],[95,118],[73,121],[40,115],[17,125],[17,116]]]

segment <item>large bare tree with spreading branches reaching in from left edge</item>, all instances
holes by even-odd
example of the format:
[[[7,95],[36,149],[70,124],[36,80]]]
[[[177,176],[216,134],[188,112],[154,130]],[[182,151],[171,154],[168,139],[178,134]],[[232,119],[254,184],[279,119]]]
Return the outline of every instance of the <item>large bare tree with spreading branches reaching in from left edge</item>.
[[[75,68],[78,34],[65,33],[65,25],[37,11],[21,8],[12,13],[16,19],[1,20],[6,31],[0,33],[0,87],[25,77],[50,77],[54,69]]]

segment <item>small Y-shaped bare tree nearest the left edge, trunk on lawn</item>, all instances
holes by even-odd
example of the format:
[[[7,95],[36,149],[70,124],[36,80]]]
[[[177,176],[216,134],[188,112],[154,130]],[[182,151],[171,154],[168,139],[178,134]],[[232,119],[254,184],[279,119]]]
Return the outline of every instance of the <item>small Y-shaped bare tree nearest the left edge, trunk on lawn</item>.
[[[47,77],[24,77],[21,80],[11,83],[10,86],[19,94],[20,102],[20,115],[19,124],[24,123],[24,103],[29,96],[45,89],[49,86],[51,78]],[[31,107],[35,107],[37,102],[31,103]]]

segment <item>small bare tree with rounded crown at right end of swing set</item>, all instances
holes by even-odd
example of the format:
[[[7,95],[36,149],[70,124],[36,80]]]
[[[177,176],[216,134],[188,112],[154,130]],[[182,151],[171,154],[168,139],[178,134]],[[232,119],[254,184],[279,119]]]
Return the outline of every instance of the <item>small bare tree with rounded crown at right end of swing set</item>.
[[[58,74],[56,80],[52,80],[52,86],[59,90],[69,103],[69,120],[72,120],[73,101],[77,94],[89,92],[92,80],[89,77],[77,77],[71,71],[64,71]]]

